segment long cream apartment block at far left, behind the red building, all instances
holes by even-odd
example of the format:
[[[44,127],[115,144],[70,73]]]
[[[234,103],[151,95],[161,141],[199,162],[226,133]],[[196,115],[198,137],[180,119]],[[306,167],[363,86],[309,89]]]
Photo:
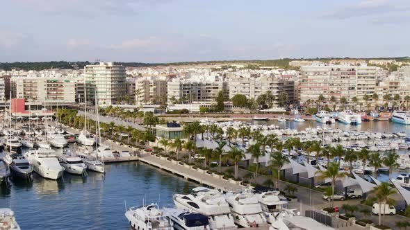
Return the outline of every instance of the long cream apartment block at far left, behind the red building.
[[[36,103],[75,103],[76,87],[72,78],[12,78],[13,98]]]

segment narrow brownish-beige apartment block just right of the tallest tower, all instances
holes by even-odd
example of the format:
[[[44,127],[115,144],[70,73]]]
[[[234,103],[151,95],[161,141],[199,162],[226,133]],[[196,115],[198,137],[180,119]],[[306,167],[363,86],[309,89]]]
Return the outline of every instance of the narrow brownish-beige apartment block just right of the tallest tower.
[[[159,105],[167,102],[166,77],[137,78],[134,82],[137,105]]]

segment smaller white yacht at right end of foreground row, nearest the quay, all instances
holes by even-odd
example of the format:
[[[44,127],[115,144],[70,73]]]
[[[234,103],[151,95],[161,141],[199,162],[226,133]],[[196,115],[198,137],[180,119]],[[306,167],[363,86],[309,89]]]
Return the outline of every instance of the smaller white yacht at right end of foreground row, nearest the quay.
[[[276,216],[281,210],[284,204],[288,204],[288,201],[281,199],[279,191],[268,191],[260,194],[256,194],[259,204],[261,204],[263,214],[265,215],[268,223],[272,224],[276,220]],[[284,197],[285,198],[285,197]]]

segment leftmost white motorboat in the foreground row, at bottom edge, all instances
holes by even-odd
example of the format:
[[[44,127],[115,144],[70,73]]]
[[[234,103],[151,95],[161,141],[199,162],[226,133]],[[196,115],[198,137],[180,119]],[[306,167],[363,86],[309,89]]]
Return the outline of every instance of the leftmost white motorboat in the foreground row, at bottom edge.
[[[157,204],[129,208],[125,217],[135,230],[174,230],[170,216],[160,210]]]

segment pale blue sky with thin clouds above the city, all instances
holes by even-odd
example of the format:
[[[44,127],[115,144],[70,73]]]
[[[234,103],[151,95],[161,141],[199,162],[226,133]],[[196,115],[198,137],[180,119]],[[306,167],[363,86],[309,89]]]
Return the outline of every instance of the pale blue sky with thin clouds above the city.
[[[409,0],[13,0],[0,62],[410,55]]]

